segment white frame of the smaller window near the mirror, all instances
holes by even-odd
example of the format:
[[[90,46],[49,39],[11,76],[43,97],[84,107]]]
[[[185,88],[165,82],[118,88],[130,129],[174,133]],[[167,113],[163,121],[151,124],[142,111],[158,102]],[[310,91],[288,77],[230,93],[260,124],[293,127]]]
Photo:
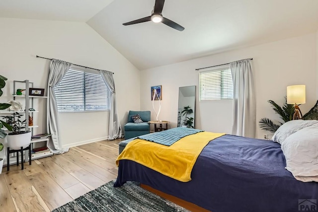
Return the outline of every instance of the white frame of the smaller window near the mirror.
[[[224,96],[224,94],[223,94],[223,92],[222,92],[222,88],[223,88],[223,86],[222,86],[222,76],[221,76],[221,74],[222,74],[222,72],[220,72],[220,76],[221,76],[221,79],[220,79],[220,82],[221,82],[221,84],[220,84],[220,95],[221,95],[221,97],[220,98],[209,98],[209,99],[202,99],[201,98],[201,92],[202,92],[202,88],[201,88],[201,74],[202,73],[206,73],[206,72],[214,72],[214,71],[225,71],[225,70],[229,70],[230,71],[230,73],[231,73],[231,79],[232,79],[232,97],[230,97],[230,98],[223,98],[223,96]],[[226,95],[226,96],[228,96],[228,95]],[[234,92],[233,92],[233,76],[232,76],[232,71],[231,71],[231,68],[230,68],[230,65],[223,65],[223,66],[218,66],[218,67],[213,67],[213,68],[206,68],[206,69],[203,69],[203,70],[201,70],[201,71],[199,71],[199,101],[215,101],[215,100],[233,100],[233,96],[234,96]]]

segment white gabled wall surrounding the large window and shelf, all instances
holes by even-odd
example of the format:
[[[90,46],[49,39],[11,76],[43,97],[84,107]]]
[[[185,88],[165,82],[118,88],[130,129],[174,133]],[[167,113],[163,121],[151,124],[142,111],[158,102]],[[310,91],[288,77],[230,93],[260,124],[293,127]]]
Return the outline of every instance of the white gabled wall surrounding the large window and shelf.
[[[129,110],[140,109],[140,71],[86,23],[0,18],[0,29],[0,74],[8,78],[1,102],[12,99],[13,80],[29,79],[35,87],[46,89],[50,61],[35,57],[39,55],[115,72],[122,126]],[[107,138],[108,115],[108,111],[60,113],[63,145]],[[35,133],[46,131],[44,116],[41,112],[35,117],[40,126]]]

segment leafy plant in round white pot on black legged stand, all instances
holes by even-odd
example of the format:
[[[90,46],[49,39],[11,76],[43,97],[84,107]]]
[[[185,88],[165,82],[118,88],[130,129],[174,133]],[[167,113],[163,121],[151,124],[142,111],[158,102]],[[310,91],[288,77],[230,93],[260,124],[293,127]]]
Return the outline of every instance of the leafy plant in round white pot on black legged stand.
[[[11,133],[6,136],[10,149],[20,149],[21,146],[26,148],[31,142],[31,131],[25,131],[26,120],[21,121],[22,116],[18,112],[12,113],[10,116],[1,116],[5,119],[6,125],[10,126],[7,129]]]

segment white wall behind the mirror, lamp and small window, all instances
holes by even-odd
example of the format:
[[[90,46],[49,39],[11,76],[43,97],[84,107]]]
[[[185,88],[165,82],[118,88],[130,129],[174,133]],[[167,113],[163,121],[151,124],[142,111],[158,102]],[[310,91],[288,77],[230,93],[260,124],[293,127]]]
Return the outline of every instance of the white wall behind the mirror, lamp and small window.
[[[277,42],[229,51],[182,63],[141,71],[141,109],[151,110],[150,86],[162,85],[162,106],[160,120],[171,122],[176,127],[178,87],[196,85],[197,68],[253,58],[253,74],[256,93],[257,138],[269,134],[258,127],[258,121],[267,117],[280,121],[267,100],[279,105],[284,102],[286,86],[306,84],[306,104],[301,105],[303,113],[312,108],[318,97],[318,36],[316,33]],[[211,132],[232,132],[232,100],[196,101],[197,129]],[[152,119],[154,113],[152,111]]]

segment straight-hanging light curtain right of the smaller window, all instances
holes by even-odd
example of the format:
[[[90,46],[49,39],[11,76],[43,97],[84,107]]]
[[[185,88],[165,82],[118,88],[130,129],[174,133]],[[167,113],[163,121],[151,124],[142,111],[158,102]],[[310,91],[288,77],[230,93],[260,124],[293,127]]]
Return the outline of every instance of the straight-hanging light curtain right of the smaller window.
[[[230,63],[233,77],[232,134],[255,138],[256,101],[251,59]]]

